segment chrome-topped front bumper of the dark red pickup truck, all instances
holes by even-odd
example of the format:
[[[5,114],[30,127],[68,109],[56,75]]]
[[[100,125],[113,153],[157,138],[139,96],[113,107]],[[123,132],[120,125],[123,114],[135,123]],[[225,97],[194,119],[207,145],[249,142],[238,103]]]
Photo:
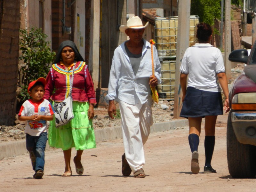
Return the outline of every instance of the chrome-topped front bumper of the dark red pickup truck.
[[[231,123],[240,143],[256,146],[256,111],[234,111]]]

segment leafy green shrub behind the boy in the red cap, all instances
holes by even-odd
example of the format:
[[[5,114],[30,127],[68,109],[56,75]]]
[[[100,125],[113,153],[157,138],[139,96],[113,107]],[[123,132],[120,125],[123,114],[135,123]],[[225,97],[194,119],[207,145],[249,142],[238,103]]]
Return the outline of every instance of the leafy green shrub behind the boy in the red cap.
[[[20,61],[22,78],[20,79],[20,91],[18,98],[20,102],[29,99],[28,84],[39,77],[46,77],[55,57],[55,52],[51,51],[50,42],[46,41],[41,28],[30,27],[20,29]]]

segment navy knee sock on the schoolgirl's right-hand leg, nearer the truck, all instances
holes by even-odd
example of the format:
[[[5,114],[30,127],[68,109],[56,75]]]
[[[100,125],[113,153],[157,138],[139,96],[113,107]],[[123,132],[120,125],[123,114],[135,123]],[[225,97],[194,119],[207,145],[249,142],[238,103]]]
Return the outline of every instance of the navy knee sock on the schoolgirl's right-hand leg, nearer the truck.
[[[211,166],[214,145],[215,145],[215,136],[205,136],[204,151],[205,151],[205,166],[207,167]]]

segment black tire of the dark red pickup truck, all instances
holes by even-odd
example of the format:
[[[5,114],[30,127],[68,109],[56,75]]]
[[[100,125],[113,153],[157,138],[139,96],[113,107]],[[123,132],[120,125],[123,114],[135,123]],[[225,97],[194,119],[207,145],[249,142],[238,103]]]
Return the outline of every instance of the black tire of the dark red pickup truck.
[[[228,171],[233,178],[252,178],[256,174],[256,148],[238,142],[231,124],[231,113],[227,124]]]

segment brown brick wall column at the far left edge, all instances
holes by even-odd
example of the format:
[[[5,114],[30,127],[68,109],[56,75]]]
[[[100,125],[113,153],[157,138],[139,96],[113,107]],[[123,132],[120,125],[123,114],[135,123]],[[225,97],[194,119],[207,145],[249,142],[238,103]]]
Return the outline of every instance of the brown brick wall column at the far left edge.
[[[18,83],[20,1],[0,1],[0,125],[14,125]]]

